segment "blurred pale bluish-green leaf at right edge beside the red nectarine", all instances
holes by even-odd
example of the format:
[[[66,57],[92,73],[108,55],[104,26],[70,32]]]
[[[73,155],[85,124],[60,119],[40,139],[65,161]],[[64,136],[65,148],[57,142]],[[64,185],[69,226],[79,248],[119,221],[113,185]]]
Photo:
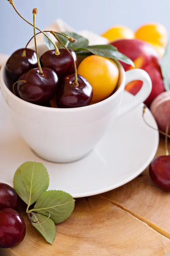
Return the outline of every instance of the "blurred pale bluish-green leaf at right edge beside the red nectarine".
[[[170,44],[167,45],[161,60],[161,73],[164,79],[165,90],[170,90]]]

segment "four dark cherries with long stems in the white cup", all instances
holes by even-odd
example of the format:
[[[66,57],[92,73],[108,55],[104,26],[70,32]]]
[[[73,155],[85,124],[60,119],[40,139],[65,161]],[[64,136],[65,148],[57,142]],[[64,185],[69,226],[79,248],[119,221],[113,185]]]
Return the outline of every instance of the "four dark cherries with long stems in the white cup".
[[[15,9],[13,1],[9,2]],[[58,49],[48,35],[39,29],[55,47],[54,50],[48,50],[42,54],[39,59],[35,32],[36,14],[37,9],[34,9],[33,25],[26,20],[34,26],[35,51],[27,47],[19,49],[10,56],[6,63],[6,73],[14,82],[14,93],[15,84],[17,84],[17,93],[15,94],[27,102],[46,105],[56,95],[58,108],[77,108],[90,105],[93,88],[84,77],[77,75],[77,55],[73,50],[67,49],[53,31],[51,34],[64,48]],[[22,16],[20,15],[20,17]],[[71,42],[75,41],[74,38],[65,37]]]

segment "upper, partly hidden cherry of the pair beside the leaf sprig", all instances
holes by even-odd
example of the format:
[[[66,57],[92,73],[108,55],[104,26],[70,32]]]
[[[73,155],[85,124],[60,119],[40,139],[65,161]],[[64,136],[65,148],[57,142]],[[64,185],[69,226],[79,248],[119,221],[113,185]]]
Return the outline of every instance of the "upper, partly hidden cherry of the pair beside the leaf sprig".
[[[0,183],[0,210],[4,208],[18,209],[18,196],[15,190],[5,183]]]

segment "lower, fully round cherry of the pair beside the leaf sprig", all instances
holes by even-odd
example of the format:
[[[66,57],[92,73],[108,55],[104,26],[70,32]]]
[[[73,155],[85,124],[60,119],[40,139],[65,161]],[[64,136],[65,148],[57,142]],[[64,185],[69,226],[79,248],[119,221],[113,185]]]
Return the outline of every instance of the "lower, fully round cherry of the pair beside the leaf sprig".
[[[14,209],[0,211],[0,248],[10,248],[20,244],[26,235],[23,218]]]

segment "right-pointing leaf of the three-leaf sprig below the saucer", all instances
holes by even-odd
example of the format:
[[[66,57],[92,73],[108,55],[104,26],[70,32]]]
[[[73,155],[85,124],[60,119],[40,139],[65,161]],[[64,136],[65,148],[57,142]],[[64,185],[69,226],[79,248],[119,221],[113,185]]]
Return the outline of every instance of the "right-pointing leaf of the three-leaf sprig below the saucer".
[[[60,190],[50,190],[42,193],[34,206],[30,210],[49,216],[55,224],[65,221],[74,210],[74,198]]]

